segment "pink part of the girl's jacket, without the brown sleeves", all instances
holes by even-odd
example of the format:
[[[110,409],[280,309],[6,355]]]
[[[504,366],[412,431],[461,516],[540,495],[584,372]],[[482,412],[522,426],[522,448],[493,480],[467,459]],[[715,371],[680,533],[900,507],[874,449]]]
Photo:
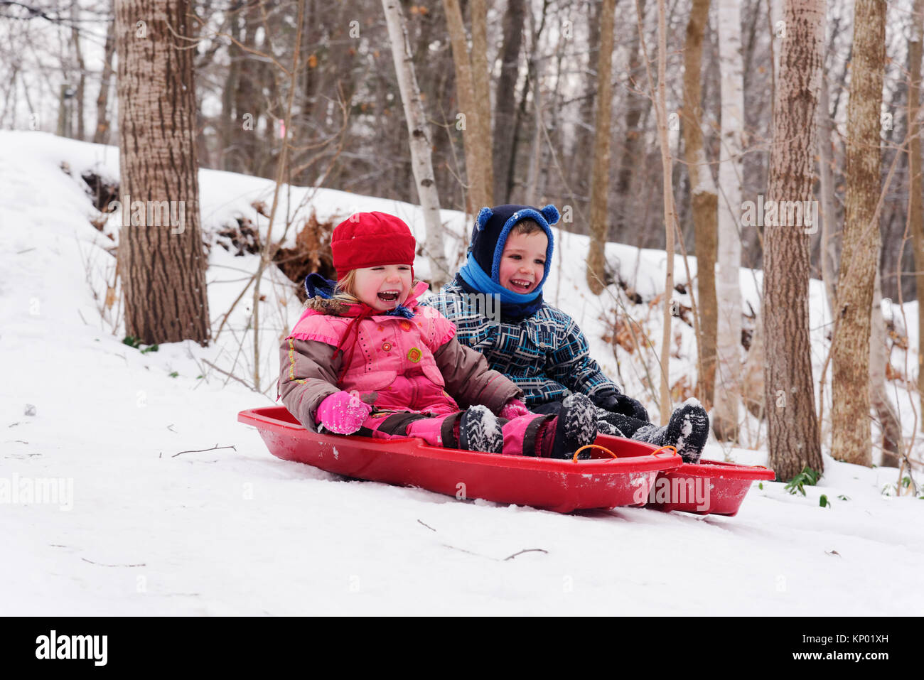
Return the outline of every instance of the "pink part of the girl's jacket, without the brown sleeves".
[[[359,322],[359,334],[352,352],[352,336],[342,350],[339,389],[356,390],[376,410],[414,410],[434,414],[459,410],[448,395],[444,375],[433,355],[456,336],[456,327],[431,307],[419,307],[418,297],[427,289],[419,283],[405,306],[412,319],[375,315]],[[320,342],[338,346],[355,317],[337,316],[342,303],[312,298],[311,307],[301,315],[287,339]],[[454,345],[457,342],[453,343]],[[485,364],[483,370],[487,370]],[[493,372],[493,371],[490,371]]]

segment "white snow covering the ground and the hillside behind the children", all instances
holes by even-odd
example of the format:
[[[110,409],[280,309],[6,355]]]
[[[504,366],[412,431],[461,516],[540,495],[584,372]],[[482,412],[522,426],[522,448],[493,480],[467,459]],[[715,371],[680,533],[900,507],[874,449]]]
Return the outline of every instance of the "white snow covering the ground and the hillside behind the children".
[[[278,340],[298,317],[291,284],[275,270],[264,274],[260,391],[213,368],[252,382],[249,293],[213,346],[141,353],[124,345],[118,303],[105,306],[115,260],[103,248],[113,242],[90,225],[98,212],[79,179],[88,168],[116,177],[117,150],[0,132],[0,613],[839,615],[924,607],[924,503],[882,493],[897,479],[893,468],[826,455],[807,496],[764,482],[735,517],[640,508],[562,516],[346,481],[274,458],[236,416],[274,403]],[[210,239],[236,214],[258,221],[250,203],[272,198],[264,179],[200,177]],[[383,210],[423,236],[407,203],[328,189],[286,193],[289,212],[304,201],[302,217]],[[446,211],[444,220],[467,235],[464,216]],[[265,218],[259,224],[265,232]],[[274,234],[283,229],[281,220]],[[115,218],[104,231],[117,235]],[[587,291],[586,237],[563,234],[559,243],[546,297],[577,319],[615,373],[600,318],[615,306],[615,288],[602,297]],[[459,241],[447,252],[455,258]],[[660,292],[663,253],[609,244],[607,256],[646,300]],[[213,247],[209,265],[214,330],[256,258]],[[695,273],[693,258],[690,267]],[[417,271],[426,275],[425,262]],[[686,279],[679,257],[676,272]],[[742,270],[755,309],[759,277]],[[821,370],[827,320],[818,282],[811,307]],[[643,319],[647,308],[631,311]],[[917,306],[905,311],[917,346]],[[654,309],[646,322],[655,343],[659,317]],[[692,331],[675,326],[672,379],[687,374],[693,383]],[[628,393],[645,399],[637,358],[621,354],[620,362]],[[899,407],[910,408],[900,392]],[[711,443],[704,457],[766,463],[762,447]],[[43,480],[63,480],[54,503],[23,497]],[[18,497],[4,496],[4,483]],[[831,507],[820,506],[822,493]]]

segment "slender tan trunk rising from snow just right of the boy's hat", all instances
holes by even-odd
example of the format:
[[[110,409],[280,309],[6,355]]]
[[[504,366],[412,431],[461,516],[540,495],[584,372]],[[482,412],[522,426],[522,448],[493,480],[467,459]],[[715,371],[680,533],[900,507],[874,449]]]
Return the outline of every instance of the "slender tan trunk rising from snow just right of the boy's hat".
[[[603,291],[606,267],[606,236],[610,227],[607,209],[610,194],[610,132],[613,110],[613,23],[616,0],[603,0],[600,16],[600,54],[597,59],[597,116],[594,125],[593,171],[590,176],[590,250],[587,254],[587,285],[594,295]]]

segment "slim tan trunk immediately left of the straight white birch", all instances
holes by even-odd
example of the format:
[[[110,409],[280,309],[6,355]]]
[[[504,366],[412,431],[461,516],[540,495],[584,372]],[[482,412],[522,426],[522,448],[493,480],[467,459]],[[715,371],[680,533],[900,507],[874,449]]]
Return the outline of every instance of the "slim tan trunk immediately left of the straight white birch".
[[[684,47],[684,146],[690,176],[693,228],[696,236],[697,306],[699,308],[699,398],[711,407],[715,383],[715,334],[718,309],[715,298],[716,216],[719,197],[703,150],[699,74],[702,39],[709,21],[710,0],[694,0]]]

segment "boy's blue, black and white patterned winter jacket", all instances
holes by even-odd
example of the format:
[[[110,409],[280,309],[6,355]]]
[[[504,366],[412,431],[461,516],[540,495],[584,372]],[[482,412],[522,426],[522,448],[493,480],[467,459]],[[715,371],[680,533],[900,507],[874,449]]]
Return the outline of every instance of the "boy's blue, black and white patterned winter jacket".
[[[450,283],[420,304],[435,307],[455,323],[458,341],[517,383],[527,406],[560,401],[569,392],[592,398],[604,389],[618,391],[590,358],[587,339],[565,312],[543,303],[520,322],[494,322],[468,304],[466,295]]]

